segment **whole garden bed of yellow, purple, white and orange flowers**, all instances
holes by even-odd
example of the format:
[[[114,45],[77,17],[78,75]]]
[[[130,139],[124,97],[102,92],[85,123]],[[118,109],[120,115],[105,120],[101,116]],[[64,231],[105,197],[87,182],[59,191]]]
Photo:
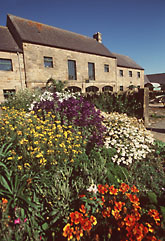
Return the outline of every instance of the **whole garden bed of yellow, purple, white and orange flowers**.
[[[0,119],[0,240],[162,238],[161,156],[142,123],[70,93],[37,98]]]

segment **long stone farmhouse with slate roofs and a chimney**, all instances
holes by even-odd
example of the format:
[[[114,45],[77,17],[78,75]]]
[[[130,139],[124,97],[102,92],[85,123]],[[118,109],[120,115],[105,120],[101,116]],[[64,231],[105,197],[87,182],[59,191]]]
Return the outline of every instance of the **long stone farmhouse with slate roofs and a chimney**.
[[[45,87],[50,78],[82,92],[144,87],[144,69],[109,51],[99,32],[90,38],[7,15],[0,26],[0,102],[8,92]]]

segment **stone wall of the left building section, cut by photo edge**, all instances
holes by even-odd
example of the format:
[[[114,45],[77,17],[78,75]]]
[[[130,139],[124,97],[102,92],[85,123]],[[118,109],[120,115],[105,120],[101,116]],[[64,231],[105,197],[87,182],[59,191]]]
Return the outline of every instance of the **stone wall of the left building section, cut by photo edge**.
[[[12,60],[12,71],[0,70],[0,103],[4,101],[4,90],[25,88],[25,71],[23,55],[10,52],[0,52],[1,59]]]

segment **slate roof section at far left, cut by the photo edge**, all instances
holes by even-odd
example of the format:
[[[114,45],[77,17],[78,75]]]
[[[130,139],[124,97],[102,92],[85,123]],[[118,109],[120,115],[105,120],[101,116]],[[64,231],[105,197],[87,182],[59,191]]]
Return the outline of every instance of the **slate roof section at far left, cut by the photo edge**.
[[[22,52],[7,27],[0,26],[0,51]]]

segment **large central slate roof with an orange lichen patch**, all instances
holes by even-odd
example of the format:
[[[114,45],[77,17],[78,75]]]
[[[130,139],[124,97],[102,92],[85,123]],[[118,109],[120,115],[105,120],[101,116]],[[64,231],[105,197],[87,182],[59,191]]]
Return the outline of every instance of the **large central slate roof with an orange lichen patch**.
[[[10,14],[7,16],[7,26],[13,34],[17,35],[17,40],[20,42],[40,44],[115,58],[103,44],[84,35]]]

